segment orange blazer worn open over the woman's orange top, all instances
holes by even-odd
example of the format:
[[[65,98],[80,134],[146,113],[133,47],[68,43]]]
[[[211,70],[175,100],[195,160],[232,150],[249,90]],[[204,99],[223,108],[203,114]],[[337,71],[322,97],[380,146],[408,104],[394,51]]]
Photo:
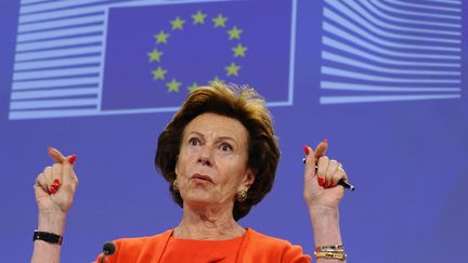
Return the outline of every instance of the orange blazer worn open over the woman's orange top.
[[[115,240],[116,252],[105,259],[106,263],[158,263],[173,229],[148,237]],[[242,263],[309,263],[311,257],[302,253],[300,246],[260,234],[247,228],[240,244],[236,262]],[[100,263],[102,254],[98,257]]]

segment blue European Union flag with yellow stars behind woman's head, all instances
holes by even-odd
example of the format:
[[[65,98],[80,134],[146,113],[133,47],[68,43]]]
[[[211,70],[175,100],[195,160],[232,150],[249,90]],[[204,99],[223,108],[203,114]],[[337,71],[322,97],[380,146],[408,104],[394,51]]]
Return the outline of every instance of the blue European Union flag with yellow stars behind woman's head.
[[[291,13],[290,1],[112,8],[102,109],[177,107],[213,80],[288,101]]]

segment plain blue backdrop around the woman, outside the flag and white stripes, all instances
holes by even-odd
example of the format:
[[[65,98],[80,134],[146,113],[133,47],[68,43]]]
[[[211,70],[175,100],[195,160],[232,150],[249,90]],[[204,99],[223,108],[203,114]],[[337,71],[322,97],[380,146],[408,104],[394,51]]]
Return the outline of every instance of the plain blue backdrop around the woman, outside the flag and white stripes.
[[[304,144],[328,139],[328,155],[343,162],[358,188],[340,205],[348,262],[461,262],[468,245],[466,19],[459,98],[324,105],[320,97],[334,91],[320,88],[323,4],[298,1],[294,104],[271,107],[282,145],[275,186],[242,224],[312,253],[300,160]],[[78,156],[63,262],[90,262],[107,240],[177,225],[181,210],[153,166],[157,136],[173,113],[9,119],[18,9],[0,2],[0,261],[29,261],[32,184],[51,162],[49,145]]]

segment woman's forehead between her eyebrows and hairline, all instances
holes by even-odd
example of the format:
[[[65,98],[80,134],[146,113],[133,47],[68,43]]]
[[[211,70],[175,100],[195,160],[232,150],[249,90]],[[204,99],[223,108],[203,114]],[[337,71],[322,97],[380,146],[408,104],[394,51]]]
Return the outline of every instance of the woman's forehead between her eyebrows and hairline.
[[[204,136],[226,136],[239,142],[247,142],[248,132],[237,119],[226,116],[205,113],[194,118],[184,129],[184,135],[198,132]]]

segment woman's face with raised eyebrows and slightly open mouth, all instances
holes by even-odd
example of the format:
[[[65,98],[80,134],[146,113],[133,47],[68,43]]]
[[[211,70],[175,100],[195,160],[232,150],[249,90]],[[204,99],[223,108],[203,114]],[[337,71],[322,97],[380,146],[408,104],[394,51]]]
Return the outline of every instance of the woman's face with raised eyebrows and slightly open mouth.
[[[176,166],[184,203],[232,206],[255,175],[247,167],[248,132],[236,119],[206,113],[185,127]]]

